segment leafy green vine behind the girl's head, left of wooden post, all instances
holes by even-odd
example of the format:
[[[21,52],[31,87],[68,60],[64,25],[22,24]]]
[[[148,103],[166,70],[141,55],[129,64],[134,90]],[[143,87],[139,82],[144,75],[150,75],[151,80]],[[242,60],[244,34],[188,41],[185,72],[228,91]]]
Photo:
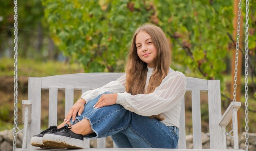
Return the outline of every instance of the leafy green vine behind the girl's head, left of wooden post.
[[[55,44],[85,72],[119,72],[139,24],[163,28],[173,46],[173,68],[220,79],[226,69],[232,2],[192,0],[44,0]],[[168,13],[166,13],[168,12]],[[181,67],[181,68],[180,68]]]

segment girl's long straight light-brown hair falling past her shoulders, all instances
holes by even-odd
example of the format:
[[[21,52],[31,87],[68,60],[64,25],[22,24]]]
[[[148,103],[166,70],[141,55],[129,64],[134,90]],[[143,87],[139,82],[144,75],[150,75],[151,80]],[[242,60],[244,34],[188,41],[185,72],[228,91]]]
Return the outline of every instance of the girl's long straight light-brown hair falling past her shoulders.
[[[155,70],[149,79],[146,92],[147,63],[139,58],[135,45],[136,35],[141,31],[150,35],[155,48],[157,48],[157,56],[154,60]],[[126,92],[132,95],[152,93],[168,74],[170,65],[171,47],[162,29],[152,24],[144,24],[140,26],[133,34],[128,60],[126,62]],[[160,117],[160,114],[150,117],[164,120],[164,118]]]

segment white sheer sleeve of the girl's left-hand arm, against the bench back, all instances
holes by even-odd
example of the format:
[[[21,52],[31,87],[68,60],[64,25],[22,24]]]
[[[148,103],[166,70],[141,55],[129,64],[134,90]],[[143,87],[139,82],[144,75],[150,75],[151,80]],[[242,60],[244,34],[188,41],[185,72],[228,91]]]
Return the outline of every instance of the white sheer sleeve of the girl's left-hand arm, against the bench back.
[[[110,83],[104,85],[101,88],[97,88],[94,90],[89,90],[84,92],[81,95],[86,103],[88,103],[92,98],[95,98],[104,92],[112,92],[112,93],[123,93],[125,92],[125,82],[126,82],[126,74],[118,78],[116,81],[111,81]]]

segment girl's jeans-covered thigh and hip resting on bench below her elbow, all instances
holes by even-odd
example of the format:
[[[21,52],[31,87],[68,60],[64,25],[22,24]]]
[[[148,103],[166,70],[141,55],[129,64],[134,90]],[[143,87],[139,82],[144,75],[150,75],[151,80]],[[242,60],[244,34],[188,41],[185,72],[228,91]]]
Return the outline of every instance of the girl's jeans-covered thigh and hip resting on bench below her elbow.
[[[123,133],[135,148],[177,148],[178,133],[177,127],[166,127],[160,121],[132,113],[132,119]],[[122,136],[112,137],[117,146],[122,147],[119,139]]]

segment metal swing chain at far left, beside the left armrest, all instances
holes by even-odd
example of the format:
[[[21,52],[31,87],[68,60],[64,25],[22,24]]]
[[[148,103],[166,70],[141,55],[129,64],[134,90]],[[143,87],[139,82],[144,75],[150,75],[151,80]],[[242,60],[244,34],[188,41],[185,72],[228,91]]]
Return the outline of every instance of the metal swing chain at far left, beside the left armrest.
[[[16,136],[18,124],[18,7],[17,0],[14,2],[14,122],[13,122],[13,151],[16,150]],[[18,133],[19,133],[18,129]]]

